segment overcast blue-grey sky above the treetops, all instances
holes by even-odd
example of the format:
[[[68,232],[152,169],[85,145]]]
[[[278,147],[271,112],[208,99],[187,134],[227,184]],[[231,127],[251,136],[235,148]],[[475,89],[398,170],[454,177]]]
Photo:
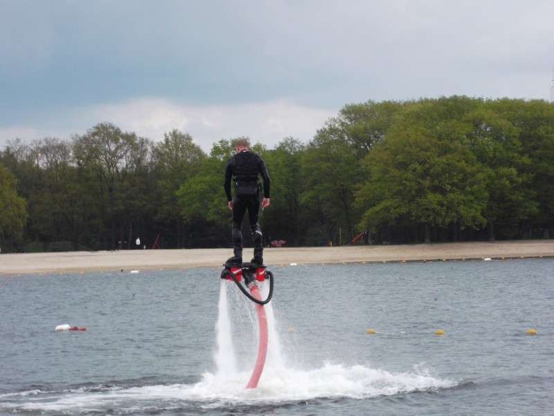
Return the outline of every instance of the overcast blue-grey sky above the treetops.
[[[208,151],[344,105],[550,98],[551,0],[0,0],[0,146],[111,122]]]

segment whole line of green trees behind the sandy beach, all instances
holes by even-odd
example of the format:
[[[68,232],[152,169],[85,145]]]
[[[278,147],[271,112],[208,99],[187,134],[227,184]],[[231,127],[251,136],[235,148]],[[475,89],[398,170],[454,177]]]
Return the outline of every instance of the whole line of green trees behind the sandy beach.
[[[467,96],[345,105],[307,144],[253,144],[271,175],[265,243],[551,238],[554,103]],[[100,123],[0,152],[6,251],[231,247],[222,187],[233,139],[209,153]],[[249,231],[243,229],[245,243]],[[136,239],[141,244],[136,245]]]

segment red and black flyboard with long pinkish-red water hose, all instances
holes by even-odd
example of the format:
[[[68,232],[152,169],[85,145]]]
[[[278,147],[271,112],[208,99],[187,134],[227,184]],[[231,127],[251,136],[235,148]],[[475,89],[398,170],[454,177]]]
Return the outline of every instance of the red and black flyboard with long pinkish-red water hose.
[[[264,370],[265,358],[267,356],[267,316],[264,305],[269,303],[273,295],[273,273],[267,270],[265,264],[261,266],[256,263],[242,263],[242,266],[225,264],[221,272],[221,278],[234,281],[238,288],[240,288],[240,291],[256,304],[260,342],[258,343],[256,365],[254,365],[254,370],[247,384],[247,388],[256,388]],[[269,293],[267,299],[262,300],[258,282],[262,282],[265,279],[269,279]],[[241,281],[244,281],[244,286],[249,288],[250,293],[248,293]]]

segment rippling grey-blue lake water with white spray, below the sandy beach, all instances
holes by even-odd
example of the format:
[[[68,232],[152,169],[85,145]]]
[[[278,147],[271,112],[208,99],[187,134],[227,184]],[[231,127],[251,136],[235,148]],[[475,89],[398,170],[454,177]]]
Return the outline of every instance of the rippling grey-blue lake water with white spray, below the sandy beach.
[[[220,268],[0,276],[0,415],[554,414],[553,259],[270,270],[252,390],[255,309]]]

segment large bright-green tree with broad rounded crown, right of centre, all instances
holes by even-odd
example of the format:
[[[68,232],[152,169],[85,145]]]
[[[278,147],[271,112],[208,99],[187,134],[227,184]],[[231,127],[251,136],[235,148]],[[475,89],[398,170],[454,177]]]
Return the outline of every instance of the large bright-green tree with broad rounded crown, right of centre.
[[[437,105],[410,105],[364,160],[368,179],[357,191],[361,226],[377,227],[383,238],[391,238],[386,230],[404,227],[418,239],[423,226],[430,242],[431,227],[479,228],[485,222],[481,166],[463,146],[463,125],[437,112]]]

